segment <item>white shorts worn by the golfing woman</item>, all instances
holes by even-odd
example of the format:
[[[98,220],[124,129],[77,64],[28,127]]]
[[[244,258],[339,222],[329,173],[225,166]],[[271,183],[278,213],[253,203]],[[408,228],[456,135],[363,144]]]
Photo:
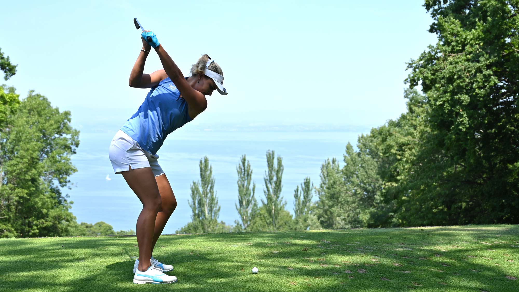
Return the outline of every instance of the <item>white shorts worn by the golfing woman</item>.
[[[116,174],[129,170],[129,166],[131,169],[151,167],[156,177],[164,174],[157,162],[159,155],[153,155],[142,149],[139,143],[121,130],[117,131],[112,139],[108,156]]]

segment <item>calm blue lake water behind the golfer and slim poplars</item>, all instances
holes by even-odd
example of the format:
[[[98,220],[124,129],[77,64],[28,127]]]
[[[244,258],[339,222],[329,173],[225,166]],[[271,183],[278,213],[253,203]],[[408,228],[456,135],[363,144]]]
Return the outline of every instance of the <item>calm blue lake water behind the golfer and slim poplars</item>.
[[[356,131],[357,130],[357,131]],[[115,175],[108,158],[108,146],[117,131],[88,132],[81,129],[80,145],[72,162],[78,171],[70,177],[74,184],[63,193],[73,201],[72,213],[78,222],[104,221],[114,230],[135,230],[136,218],[142,204],[121,175]],[[367,130],[364,130],[364,132]],[[215,191],[221,205],[220,218],[227,224],[238,219],[236,167],[240,156],[246,154],[256,183],[255,196],[264,198],[263,176],[267,168],[265,153],[275,150],[283,157],[283,191],[286,208],[293,213],[294,189],[305,177],[319,185],[320,167],[326,158],[337,157],[342,162],[345,145],[356,144],[361,131],[334,128],[331,131],[260,129],[247,131],[232,129],[181,128],[169,135],[159,150],[159,164],[166,172],[178,206],[163,233],[174,233],[191,220],[188,206],[189,185],[199,180],[200,158],[208,156],[215,177]],[[109,175],[111,180],[106,179]],[[317,195],[314,195],[317,200]]]

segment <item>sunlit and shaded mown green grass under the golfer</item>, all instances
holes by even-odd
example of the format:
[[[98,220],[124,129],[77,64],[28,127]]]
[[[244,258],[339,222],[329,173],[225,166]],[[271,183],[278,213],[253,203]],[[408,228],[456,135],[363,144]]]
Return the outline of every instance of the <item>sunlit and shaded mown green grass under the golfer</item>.
[[[136,244],[2,239],[0,290],[519,291],[519,225],[163,235],[162,285],[132,283]]]

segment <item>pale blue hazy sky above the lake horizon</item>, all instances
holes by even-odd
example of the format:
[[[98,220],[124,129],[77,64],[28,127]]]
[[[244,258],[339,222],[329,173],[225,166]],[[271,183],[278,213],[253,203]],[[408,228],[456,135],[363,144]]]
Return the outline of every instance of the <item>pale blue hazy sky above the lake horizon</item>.
[[[9,1],[0,47],[19,64],[8,85],[71,110],[73,124],[113,131],[146,89],[128,86],[141,48],[137,17],[187,75],[207,53],[229,95],[190,126],[334,124],[398,117],[405,62],[436,42],[422,1]],[[11,41],[14,40],[14,41]],[[154,52],[145,72],[161,69]],[[104,123],[104,124],[103,124]],[[227,127],[227,126],[226,126]]]

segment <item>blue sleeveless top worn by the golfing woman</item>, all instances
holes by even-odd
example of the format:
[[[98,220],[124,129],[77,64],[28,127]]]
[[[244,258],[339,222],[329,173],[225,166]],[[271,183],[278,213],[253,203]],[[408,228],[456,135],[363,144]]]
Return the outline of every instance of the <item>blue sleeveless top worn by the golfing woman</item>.
[[[139,110],[121,130],[155,155],[168,134],[192,120],[187,113],[187,102],[168,77],[149,90]]]

